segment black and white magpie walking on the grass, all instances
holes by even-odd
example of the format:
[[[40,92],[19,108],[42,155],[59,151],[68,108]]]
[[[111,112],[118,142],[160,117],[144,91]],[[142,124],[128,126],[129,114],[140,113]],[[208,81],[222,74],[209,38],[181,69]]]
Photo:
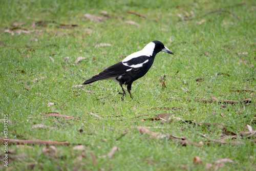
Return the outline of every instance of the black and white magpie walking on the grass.
[[[99,74],[94,75],[82,84],[89,84],[103,79],[112,79],[118,82],[122,88],[123,93],[119,92],[119,94],[123,96],[126,95],[123,89],[123,84],[125,84],[127,85],[127,91],[131,98],[133,98],[131,93],[132,83],[147,73],[153,65],[156,54],[160,51],[167,52],[172,55],[174,54],[166,48],[161,41],[155,40],[147,44],[141,51],[127,56],[121,62],[118,62]]]

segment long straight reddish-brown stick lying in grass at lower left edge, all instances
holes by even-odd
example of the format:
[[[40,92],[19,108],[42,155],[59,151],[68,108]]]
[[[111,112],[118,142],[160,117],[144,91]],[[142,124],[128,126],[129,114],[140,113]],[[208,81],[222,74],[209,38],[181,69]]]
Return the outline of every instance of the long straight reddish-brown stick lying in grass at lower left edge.
[[[18,140],[18,139],[5,139],[0,137],[0,142],[8,144],[40,144],[40,145],[69,145],[68,141],[45,141],[45,140]]]

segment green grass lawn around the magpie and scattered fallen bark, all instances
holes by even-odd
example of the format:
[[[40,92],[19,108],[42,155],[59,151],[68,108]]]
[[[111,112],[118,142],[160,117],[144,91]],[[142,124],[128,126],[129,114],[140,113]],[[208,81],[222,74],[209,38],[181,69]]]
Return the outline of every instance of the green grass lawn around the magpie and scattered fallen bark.
[[[56,145],[57,151],[50,152],[45,152],[49,148],[46,145],[10,144],[9,165],[6,168],[2,164],[2,168],[204,170],[211,163],[209,170],[255,170],[256,148],[250,142],[255,140],[255,135],[250,139],[223,140],[244,143],[240,145],[207,145],[208,139],[200,135],[221,140],[223,130],[177,119],[165,124],[161,120],[142,119],[171,113],[183,121],[225,124],[227,131],[237,135],[248,132],[247,124],[255,130],[255,87],[236,86],[256,84],[254,1],[1,1],[0,6],[0,112],[1,118],[8,114],[12,122],[8,126],[8,138],[70,143]],[[204,15],[219,9],[228,12]],[[127,13],[128,10],[146,18]],[[101,11],[109,13],[102,22],[83,17],[86,13],[102,16]],[[129,20],[140,26],[123,23]],[[24,24],[15,26],[20,23]],[[31,27],[33,23],[37,23],[36,27]],[[63,29],[61,24],[78,27]],[[18,29],[29,33],[10,33]],[[93,87],[72,88],[84,81],[78,75],[90,78],[122,60],[118,56],[141,50],[153,40],[161,40],[175,55],[157,55],[151,70],[133,84],[134,100],[126,96],[121,101],[117,94],[119,85],[109,80],[94,82]],[[100,43],[112,46],[94,48]],[[68,61],[63,60],[68,56]],[[86,59],[76,65],[79,56]],[[164,75],[166,88],[160,84]],[[196,81],[200,78],[202,81]],[[222,108],[217,102],[194,100],[210,97],[218,101],[251,98],[251,103],[226,104]],[[49,102],[54,105],[49,107]],[[182,109],[166,109],[172,107]],[[78,119],[41,115],[52,112]],[[54,129],[32,129],[36,124]],[[4,128],[4,122],[0,125]],[[167,138],[141,135],[134,129],[136,126],[203,144],[181,146]],[[4,137],[2,130],[1,137]],[[73,149],[77,144],[85,149]],[[118,147],[113,157],[101,157],[113,146]],[[18,157],[24,153],[27,157]],[[96,157],[97,164],[90,153]],[[3,156],[1,151],[1,159]],[[193,162],[195,156],[201,158],[199,164]],[[223,158],[233,163],[214,163]]]

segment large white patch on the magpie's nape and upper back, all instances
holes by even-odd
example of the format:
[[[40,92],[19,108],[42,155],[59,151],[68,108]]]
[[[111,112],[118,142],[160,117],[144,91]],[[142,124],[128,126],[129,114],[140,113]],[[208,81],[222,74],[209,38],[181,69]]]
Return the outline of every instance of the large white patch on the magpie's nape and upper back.
[[[132,58],[136,58],[136,57],[139,57],[139,56],[148,56],[148,57],[150,57],[150,56],[153,55],[154,49],[155,49],[155,43],[150,42],[141,51],[132,53],[131,55],[124,58],[122,60],[122,62],[127,62],[127,61],[131,60]]]

